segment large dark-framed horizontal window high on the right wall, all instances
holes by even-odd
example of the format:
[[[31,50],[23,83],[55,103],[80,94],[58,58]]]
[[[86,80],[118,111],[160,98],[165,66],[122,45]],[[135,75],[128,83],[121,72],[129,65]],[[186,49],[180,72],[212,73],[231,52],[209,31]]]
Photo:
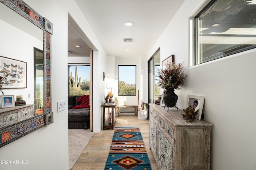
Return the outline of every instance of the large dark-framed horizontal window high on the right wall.
[[[212,0],[195,17],[195,31],[195,64],[253,49],[256,1]]]

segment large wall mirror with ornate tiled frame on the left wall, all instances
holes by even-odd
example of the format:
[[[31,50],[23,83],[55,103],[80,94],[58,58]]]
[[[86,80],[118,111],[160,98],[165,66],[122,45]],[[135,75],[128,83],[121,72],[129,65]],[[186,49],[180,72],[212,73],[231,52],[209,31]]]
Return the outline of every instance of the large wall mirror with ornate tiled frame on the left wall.
[[[28,62],[27,72],[32,75],[27,75],[28,85],[32,85],[24,89],[13,90],[12,92],[14,94],[18,92],[26,94],[28,91],[32,90],[31,88],[34,89],[32,91],[32,94],[34,94],[32,95],[34,96],[34,102],[24,106],[0,109],[0,147],[3,147],[53,122],[50,69],[52,23],[40,16],[22,0],[0,0],[0,2],[0,32],[1,41],[4,42],[0,43],[0,56],[8,55],[8,58]],[[22,37],[25,34],[27,34],[25,38]],[[3,39],[3,37],[6,39]],[[21,37],[21,41],[18,41],[18,37]],[[5,46],[8,44],[7,42],[10,43],[9,45],[14,46],[15,44],[15,48],[10,49],[8,46]],[[34,55],[35,48],[40,49],[38,51],[43,53],[42,58],[38,58],[38,56]],[[11,51],[14,53],[11,53]],[[15,54],[15,51],[19,52],[18,55]],[[37,59],[41,59],[42,61],[38,62]],[[40,70],[40,73],[37,72],[38,70]],[[13,69],[13,71],[21,72],[21,70],[18,69]],[[15,74],[18,75],[18,73]],[[39,75],[41,78],[39,91],[43,99],[43,106],[40,106],[41,112],[36,114],[36,105],[38,104],[36,102],[38,98],[36,95],[36,91],[38,90],[36,88],[36,77]],[[28,96],[30,96],[30,94],[28,94]]]

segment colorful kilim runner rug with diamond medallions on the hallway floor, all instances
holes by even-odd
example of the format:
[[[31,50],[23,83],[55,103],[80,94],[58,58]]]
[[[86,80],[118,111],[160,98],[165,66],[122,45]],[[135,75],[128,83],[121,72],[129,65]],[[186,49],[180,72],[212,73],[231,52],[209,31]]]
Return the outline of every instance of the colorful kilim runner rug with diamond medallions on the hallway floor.
[[[151,170],[139,127],[115,127],[105,170]]]

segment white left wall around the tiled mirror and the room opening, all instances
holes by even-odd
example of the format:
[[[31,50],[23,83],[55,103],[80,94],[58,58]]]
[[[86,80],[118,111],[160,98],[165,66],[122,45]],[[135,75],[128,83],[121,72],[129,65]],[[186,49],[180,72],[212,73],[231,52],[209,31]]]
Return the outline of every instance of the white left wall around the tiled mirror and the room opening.
[[[101,129],[101,98],[105,94],[102,72],[106,70],[106,53],[94,35],[90,25],[74,0],[25,0],[41,16],[53,23],[52,35],[52,111],[54,123],[38,129],[4,147],[0,148],[0,160],[28,160],[28,164],[3,165],[1,170],[68,170],[68,111],[57,112],[57,102],[68,100],[68,13],[90,41],[98,49],[94,51],[94,131]],[[100,65],[100,66],[99,66]],[[98,77],[100,77],[98,79]]]

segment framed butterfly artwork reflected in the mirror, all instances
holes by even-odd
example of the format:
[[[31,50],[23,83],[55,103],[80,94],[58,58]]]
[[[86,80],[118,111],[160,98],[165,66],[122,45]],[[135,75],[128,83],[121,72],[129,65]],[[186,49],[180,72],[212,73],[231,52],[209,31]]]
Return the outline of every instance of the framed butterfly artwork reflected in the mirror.
[[[26,62],[0,56],[0,70],[8,74],[2,88],[27,88]]]

